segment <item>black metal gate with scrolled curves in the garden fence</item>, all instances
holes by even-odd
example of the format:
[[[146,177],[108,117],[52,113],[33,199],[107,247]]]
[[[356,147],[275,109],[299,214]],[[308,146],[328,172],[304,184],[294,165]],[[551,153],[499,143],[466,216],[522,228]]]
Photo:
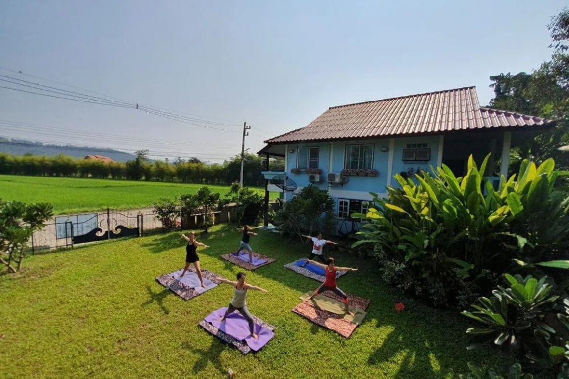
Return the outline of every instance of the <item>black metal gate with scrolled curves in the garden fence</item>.
[[[73,244],[114,240],[115,238],[141,236],[141,215],[127,216],[123,213],[110,212],[94,215],[87,220],[71,224]]]

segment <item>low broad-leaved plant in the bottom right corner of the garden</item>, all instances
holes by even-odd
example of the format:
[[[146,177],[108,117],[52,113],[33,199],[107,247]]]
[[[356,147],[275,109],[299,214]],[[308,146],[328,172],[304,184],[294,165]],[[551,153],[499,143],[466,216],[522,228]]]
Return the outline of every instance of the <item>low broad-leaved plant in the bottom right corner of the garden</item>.
[[[569,298],[552,295],[547,277],[504,275],[508,287],[498,286],[490,298],[481,297],[474,311],[461,312],[479,323],[467,329],[469,349],[492,342],[508,348],[538,377],[566,378],[569,374]]]

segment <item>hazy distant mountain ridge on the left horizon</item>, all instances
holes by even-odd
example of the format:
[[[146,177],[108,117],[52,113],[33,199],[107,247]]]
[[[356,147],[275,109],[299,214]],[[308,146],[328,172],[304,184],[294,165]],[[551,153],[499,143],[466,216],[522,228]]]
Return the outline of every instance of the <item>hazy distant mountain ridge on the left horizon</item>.
[[[24,139],[3,137],[0,137],[0,153],[8,153],[11,155],[32,154],[46,156],[64,154],[75,158],[85,158],[87,155],[104,155],[116,162],[126,162],[127,160],[135,158],[133,154],[114,149],[74,145],[50,145],[47,143],[26,141]]]

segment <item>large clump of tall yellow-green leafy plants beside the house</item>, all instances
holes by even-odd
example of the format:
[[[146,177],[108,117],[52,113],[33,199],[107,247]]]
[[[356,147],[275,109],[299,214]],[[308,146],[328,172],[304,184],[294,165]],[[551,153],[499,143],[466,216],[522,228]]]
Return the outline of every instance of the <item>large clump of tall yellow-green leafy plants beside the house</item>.
[[[479,168],[471,156],[461,178],[444,164],[415,175],[417,183],[395,175],[399,187],[387,187],[388,199],[372,193],[368,213],[352,214],[365,222],[353,246],[373,244],[382,266],[403,265],[399,277],[417,282],[409,290],[425,289],[414,295],[434,304],[461,299],[461,306],[492,289],[488,279],[510,269],[512,258],[531,264],[560,256],[569,243],[569,197],[555,188],[561,173],[553,160],[524,161],[495,190],[483,177],[488,158]]]

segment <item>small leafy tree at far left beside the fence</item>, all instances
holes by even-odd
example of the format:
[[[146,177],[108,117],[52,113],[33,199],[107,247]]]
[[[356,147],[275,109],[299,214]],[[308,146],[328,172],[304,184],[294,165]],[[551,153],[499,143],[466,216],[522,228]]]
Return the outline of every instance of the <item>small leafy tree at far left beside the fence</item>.
[[[24,204],[0,199],[0,262],[15,273],[22,267],[25,248],[35,230],[52,216],[50,204]],[[14,263],[17,265],[14,267]]]

